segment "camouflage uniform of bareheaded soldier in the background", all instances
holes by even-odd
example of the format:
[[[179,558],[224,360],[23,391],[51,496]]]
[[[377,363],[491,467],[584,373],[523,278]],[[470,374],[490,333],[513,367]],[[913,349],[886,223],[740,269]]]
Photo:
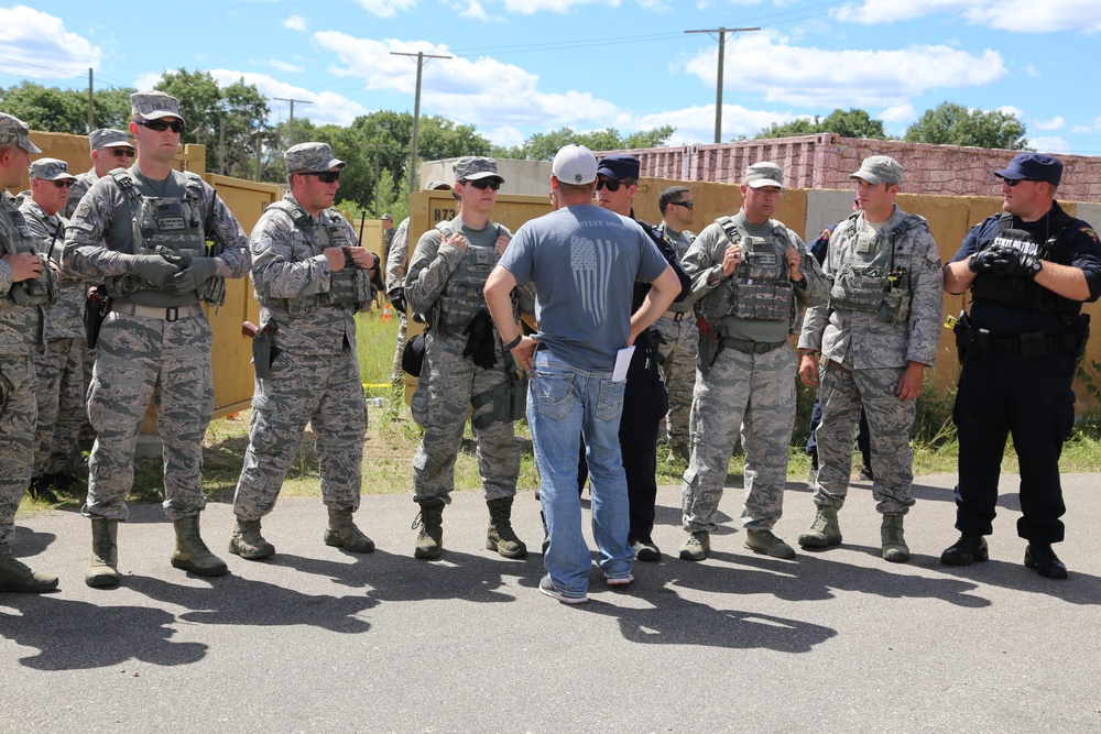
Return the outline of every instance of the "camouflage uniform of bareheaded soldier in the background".
[[[696,239],[689,231],[674,232],[663,221],[657,227],[676,251],[677,260],[684,262],[688,247]],[[696,384],[696,352],[699,342],[699,331],[696,329],[696,315],[690,303],[678,303],[669,306],[654,328],[662,335],[662,343],[657,347],[661,360],[662,376],[665,379],[665,390],[669,395],[669,412],[665,416],[665,430],[669,438],[673,453],[688,451],[688,414],[691,409],[691,393]]]

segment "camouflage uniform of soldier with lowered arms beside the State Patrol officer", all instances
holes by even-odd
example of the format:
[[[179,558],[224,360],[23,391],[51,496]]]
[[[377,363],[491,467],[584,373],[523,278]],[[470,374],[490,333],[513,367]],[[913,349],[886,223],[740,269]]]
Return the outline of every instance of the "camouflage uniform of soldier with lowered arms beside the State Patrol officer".
[[[875,303],[866,307],[846,295],[854,266],[870,262],[881,272],[904,271],[904,280],[898,281],[903,287],[890,291],[900,294],[900,304],[886,305],[882,287]],[[820,469],[815,504],[836,510],[844,503],[852,436],[863,405],[871,434],[876,510],[902,515],[914,504],[908,431],[916,401],[900,401],[896,391],[907,363],[931,366],[937,357],[944,302],[940,254],[925,220],[895,206],[891,218],[875,230],[864,223],[862,212],[841,222],[830,237],[824,271],[833,281],[830,302],[807,311],[799,337],[800,350],[821,353],[822,421],[816,432]]]

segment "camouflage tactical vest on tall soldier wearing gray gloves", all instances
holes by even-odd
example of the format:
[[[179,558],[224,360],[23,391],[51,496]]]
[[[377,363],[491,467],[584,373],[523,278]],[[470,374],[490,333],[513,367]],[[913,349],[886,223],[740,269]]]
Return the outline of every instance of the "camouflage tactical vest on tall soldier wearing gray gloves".
[[[184,197],[145,196],[124,168],[110,174],[130,205],[133,220],[133,254],[175,255],[178,258],[208,256],[203,211],[203,179],[198,174],[185,172]],[[172,174],[170,174],[172,175]],[[209,255],[219,254],[220,250]],[[106,278],[107,293],[112,298],[126,298],[138,291],[154,291],[149,281],[137,275],[112,275]],[[211,277],[199,287],[199,297],[211,306],[226,300],[226,281]]]

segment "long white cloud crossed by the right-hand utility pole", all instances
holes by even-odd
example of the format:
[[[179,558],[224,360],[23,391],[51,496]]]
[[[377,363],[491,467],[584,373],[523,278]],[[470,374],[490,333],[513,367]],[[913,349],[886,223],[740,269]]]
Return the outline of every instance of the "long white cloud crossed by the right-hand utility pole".
[[[717,50],[684,68],[715,84]],[[979,55],[948,46],[897,51],[824,51],[791,45],[775,33],[739,34],[727,43],[726,88],[805,107],[894,107],[930,89],[990,84],[1006,73],[993,51]]]

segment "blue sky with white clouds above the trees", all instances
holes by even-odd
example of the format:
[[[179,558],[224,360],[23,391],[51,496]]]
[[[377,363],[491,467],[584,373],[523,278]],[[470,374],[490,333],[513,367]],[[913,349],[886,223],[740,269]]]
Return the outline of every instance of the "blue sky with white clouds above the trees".
[[[2,0],[0,0],[2,2]],[[413,110],[512,145],[535,132],[715,130],[717,35],[729,35],[723,140],[859,107],[902,134],[950,100],[1004,109],[1031,145],[1101,155],[1099,0],[221,0],[0,4],[0,86],[149,87],[164,70],[243,77],[295,117],[350,123]],[[269,102],[274,121],[285,102]]]

